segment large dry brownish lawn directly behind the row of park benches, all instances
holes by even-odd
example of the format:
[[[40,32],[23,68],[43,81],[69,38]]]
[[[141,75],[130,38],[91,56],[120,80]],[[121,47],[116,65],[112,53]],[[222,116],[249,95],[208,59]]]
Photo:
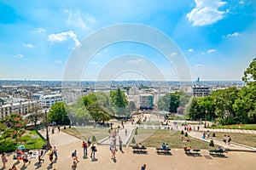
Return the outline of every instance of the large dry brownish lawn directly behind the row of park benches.
[[[161,144],[167,143],[170,145],[171,148],[177,148],[177,149],[183,149],[183,144],[187,144],[187,146],[192,146],[192,148],[198,148],[198,149],[212,149],[213,147],[209,146],[207,142],[203,142],[199,139],[192,139],[190,138],[190,142],[181,142],[181,137],[186,139],[184,135],[180,134],[179,131],[170,131],[168,129],[139,129],[140,131],[143,130],[141,133],[138,132],[138,135],[135,136],[135,138],[139,139],[140,136],[143,135],[146,136],[144,133],[154,133],[152,135],[148,135],[147,139],[144,139],[142,141],[136,140],[137,143],[141,142],[143,145],[148,147],[160,147]],[[148,131],[148,132],[146,132]],[[139,142],[138,142],[139,141]],[[217,147],[217,146],[216,146]]]

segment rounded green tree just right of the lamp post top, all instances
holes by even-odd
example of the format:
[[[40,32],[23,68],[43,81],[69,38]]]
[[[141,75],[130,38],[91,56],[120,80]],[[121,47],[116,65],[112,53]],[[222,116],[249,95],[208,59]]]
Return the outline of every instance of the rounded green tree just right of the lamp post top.
[[[64,102],[56,102],[51,105],[48,113],[49,122],[56,122],[58,125],[69,124],[66,108]]]

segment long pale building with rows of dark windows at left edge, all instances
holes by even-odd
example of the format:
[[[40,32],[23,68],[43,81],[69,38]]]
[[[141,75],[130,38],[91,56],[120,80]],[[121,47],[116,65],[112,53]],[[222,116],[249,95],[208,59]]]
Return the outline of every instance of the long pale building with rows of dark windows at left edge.
[[[37,101],[24,101],[24,102],[20,101],[18,103],[11,103],[8,105],[0,104],[0,118],[9,116],[10,113],[26,115],[36,105],[38,105]]]

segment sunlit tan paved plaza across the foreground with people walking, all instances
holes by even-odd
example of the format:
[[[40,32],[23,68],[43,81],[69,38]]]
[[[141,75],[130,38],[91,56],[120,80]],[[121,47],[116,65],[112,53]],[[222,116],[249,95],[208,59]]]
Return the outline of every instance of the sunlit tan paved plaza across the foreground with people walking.
[[[137,125],[131,125],[131,122],[125,124],[125,128],[128,133],[125,135],[125,129],[119,131],[121,139],[124,144],[128,144],[131,138],[132,131]],[[181,127],[178,127],[179,129]],[[45,136],[45,131],[41,130],[40,133]],[[193,138],[201,139],[201,133],[192,131],[189,135]],[[56,146],[58,149],[58,159],[54,161],[52,166],[49,165],[49,156],[47,153],[44,155],[44,163],[38,163],[38,158],[30,159],[32,162],[26,167],[22,167],[23,163],[20,162],[16,164],[18,169],[127,169],[127,170],[139,170],[143,164],[147,164],[147,170],[168,170],[168,169],[255,169],[256,167],[256,152],[255,149],[242,146],[240,144],[231,144],[230,149],[233,151],[228,151],[224,156],[210,156],[208,150],[201,150],[199,156],[189,156],[180,149],[172,149],[171,155],[158,155],[154,147],[148,147],[147,154],[136,154],[133,153],[131,147],[124,147],[124,152],[117,151],[116,160],[111,159],[111,152],[109,150],[110,140],[108,137],[102,139],[96,144],[97,152],[96,159],[91,159],[90,155],[88,157],[83,157],[82,140],[73,137],[67,133],[54,133],[49,134],[50,143],[52,146]],[[207,139],[209,140],[209,139]],[[223,144],[222,141],[214,139],[215,144]],[[117,142],[118,144],[118,142]],[[172,145],[171,145],[172,148]],[[226,148],[226,147],[224,147]],[[73,150],[78,150],[79,163],[77,167],[72,168],[73,160],[71,154]],[[234,151],[236,150],[236,151]],[[247,151],[238,151],[247,150]],[[90,154],[90,151],[89,151]],[[9,162],[7,167],[11,167],[16,163],[13,160],[13,154],[8,156]],[[2,168],[3,169],[3,168]],[[6,168],[8,169],[8,168]]]

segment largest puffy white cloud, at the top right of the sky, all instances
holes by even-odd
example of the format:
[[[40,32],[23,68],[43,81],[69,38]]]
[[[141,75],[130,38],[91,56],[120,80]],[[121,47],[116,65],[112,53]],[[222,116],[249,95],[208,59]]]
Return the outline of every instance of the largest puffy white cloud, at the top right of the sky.
[[[226,2],[221,0],[195,0],[195,8],[193,8],[187,18],[193,22],[193,26],[207,26],[224,18],[227,11],[218,10],[223,7]]]

